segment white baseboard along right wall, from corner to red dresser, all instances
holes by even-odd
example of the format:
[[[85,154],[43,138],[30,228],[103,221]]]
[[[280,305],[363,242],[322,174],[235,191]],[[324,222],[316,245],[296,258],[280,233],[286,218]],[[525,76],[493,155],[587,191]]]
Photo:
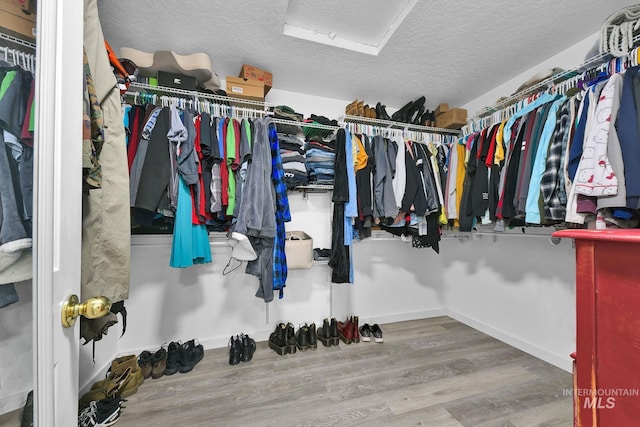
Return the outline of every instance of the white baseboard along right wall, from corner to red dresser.
[[[552,353],[544,348],[541,348],[535,344],[532,344],[528,341],[524,341],[516,336],[508,334],[504,331],[494,328],[493,326],[489,326],[483,322],[480,322],[471,317],[467,317],[464,314],[461,314],[455,310],[447,310],[446,315],[451,317],[452,319],[457,320],[458,322],[464,323],[467,326],[470,326],[474,329],[477,329],[480,332],[483,332],[489,336],[492,336],[495,339],[498,339],[506,344],[509,344],[519,350],[524,351],[538,359],[544,360],[547,363],[550,363],[558,368],[572,372],[572,361],[569,358],[569,355],[566,356],[558,355],[556,353]]]

